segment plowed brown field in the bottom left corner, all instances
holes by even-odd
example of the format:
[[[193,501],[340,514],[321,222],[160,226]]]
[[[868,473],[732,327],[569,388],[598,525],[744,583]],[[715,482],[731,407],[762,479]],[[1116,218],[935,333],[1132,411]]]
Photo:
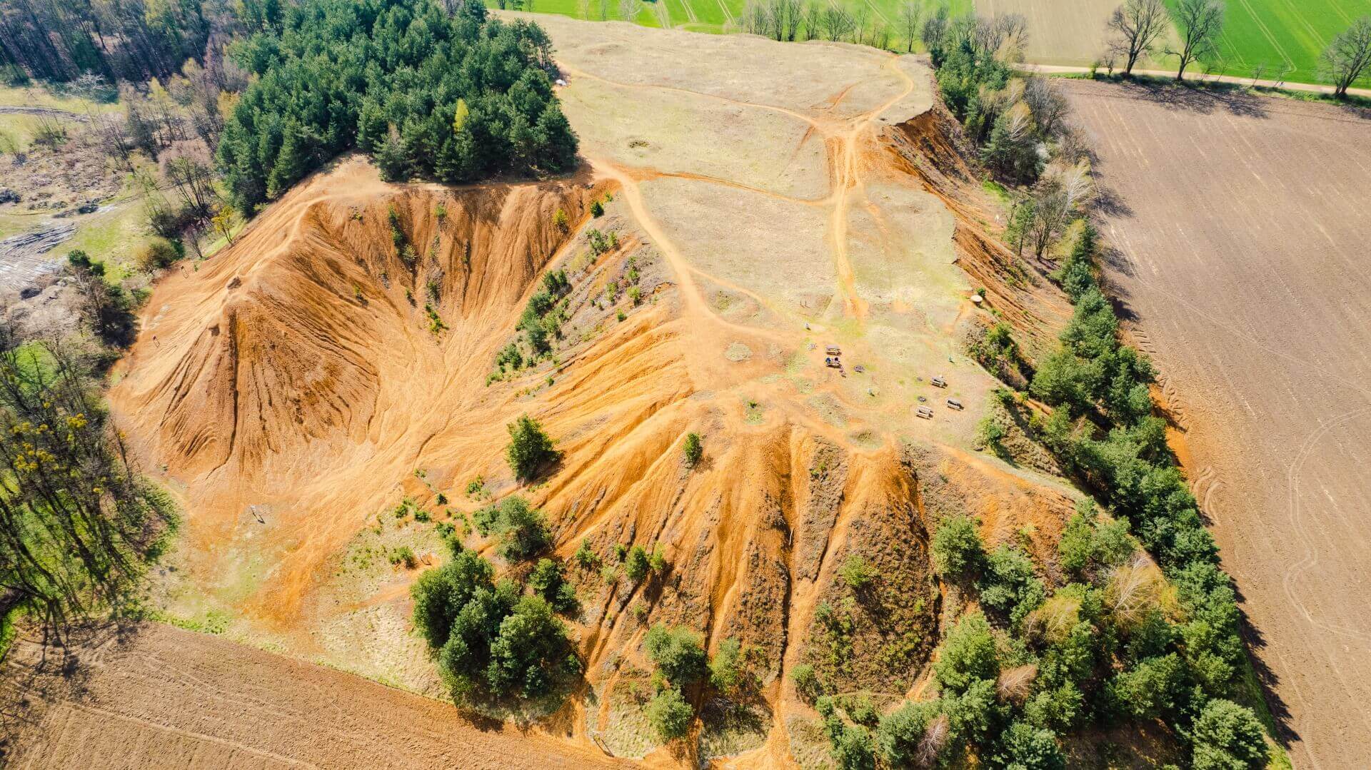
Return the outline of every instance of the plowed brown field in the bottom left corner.
[[[67,678],[34,675],[38,652],[19,643],[0,688],[4,711],[25,715],[11,736],[16,770],[622,766],[543,733],[476,725],[447,703],[158,623],[81,648]]]

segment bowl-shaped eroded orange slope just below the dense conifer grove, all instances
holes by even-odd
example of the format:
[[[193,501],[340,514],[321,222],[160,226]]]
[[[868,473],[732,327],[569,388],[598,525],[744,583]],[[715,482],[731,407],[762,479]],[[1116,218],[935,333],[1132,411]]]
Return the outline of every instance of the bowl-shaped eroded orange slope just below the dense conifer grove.
[[[594,192],[392,186],[345,160],[165,278],[111,403],[184,484],[196,545],[262,519],[282,538],[265,601],[289,617],[426,440],[492,407],[494,351],[568,237],[555,212]],[[503,423],[484,427],[498,445]]]

